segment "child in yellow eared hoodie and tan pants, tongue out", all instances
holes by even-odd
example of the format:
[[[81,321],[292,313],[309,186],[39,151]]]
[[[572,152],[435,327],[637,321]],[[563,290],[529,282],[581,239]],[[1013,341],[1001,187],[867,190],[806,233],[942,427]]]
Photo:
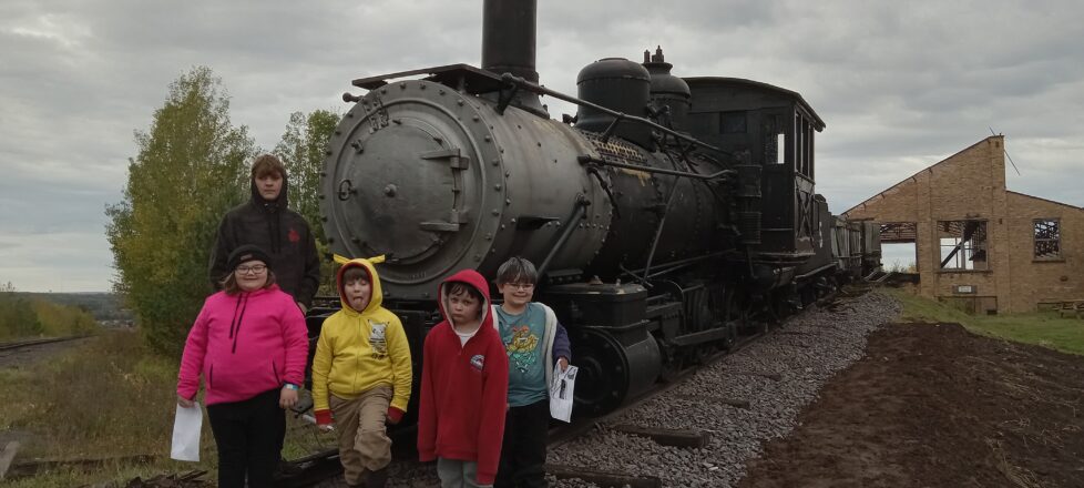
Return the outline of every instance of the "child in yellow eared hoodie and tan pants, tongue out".
[[[370,260],[347,260],[336,275],[342,309],[324,321],[313,359],[313,401],[323,429],[339,434],[347,485],[384,487],[391,462],[385,423],[398,424],[410,400],[410,347],[399,317],[380,306],[384,293]]]

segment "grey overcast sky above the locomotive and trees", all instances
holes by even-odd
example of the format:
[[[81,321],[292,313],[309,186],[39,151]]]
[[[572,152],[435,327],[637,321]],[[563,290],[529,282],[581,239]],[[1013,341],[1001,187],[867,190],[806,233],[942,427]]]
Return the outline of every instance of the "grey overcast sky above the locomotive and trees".
[[[832,212],[990,135],[1010,190],[1084,205],[1080,1],[539,0],[538,70],[575,93],[605,57],[662,44],[674,73],[801,93],[827,122],[818,191]],[[274,148],[289,113],[346,110],[350,80],[479,64],[480,0],[0,2],[0,283],[106,291],[105,205],[133,131],[207,65],[235,124]],[[572,109],[550,103],[559,118]]]

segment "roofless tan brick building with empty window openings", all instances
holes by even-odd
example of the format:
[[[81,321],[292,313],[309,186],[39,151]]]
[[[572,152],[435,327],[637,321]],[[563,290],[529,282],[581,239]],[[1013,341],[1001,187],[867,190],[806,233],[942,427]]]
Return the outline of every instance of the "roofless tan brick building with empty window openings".
[[[986,138],[843,215],[914,243],[923,296],[978,313],[1084,298],[1084,209],[1006,190],[1004,154]]]

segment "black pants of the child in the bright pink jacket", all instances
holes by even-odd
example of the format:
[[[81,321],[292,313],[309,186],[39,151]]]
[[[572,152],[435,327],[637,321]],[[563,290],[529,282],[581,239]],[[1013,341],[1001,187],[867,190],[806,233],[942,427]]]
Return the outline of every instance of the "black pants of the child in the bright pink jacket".
[[[243,401],[207,406],[211,430],[218,446],[218,487],[270,488],[278,465],[286,413],[278,406],[278,388]]]

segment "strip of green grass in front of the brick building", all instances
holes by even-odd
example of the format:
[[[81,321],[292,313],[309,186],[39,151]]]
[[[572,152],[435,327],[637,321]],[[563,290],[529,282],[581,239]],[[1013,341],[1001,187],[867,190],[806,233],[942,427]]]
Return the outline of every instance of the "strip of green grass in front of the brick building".
[[[1062,318],[1057,312],[971,315],[904,291],[886,288],[884,293],[903,304],[904,322],[955,322],[975,334],[1084,355],[1084,319]]]

